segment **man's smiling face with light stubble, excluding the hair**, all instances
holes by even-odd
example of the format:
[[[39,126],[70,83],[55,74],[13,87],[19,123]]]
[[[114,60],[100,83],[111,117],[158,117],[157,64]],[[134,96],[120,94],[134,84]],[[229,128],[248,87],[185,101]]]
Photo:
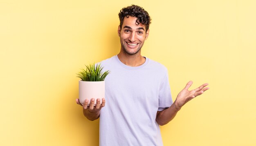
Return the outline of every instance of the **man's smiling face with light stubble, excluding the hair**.
[[[118,27],[121,51],[130,55],[140,53],[140,49],[149,33],[149,30],[146,32],[145,25],[136,25],[136,20],[136,17],[125,17],[123,25]]]

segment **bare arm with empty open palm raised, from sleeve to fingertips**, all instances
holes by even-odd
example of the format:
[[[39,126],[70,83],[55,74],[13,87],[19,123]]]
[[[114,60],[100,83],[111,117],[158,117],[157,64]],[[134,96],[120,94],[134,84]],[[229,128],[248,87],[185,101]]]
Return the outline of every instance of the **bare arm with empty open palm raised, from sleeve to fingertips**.
[[[204,93],[204,91],[207,91],[209,87],[204,88],[208,85],[208,83],[202,84],[200,87],[189,91],[189,87],[193,84],[192,81],[189,81],[185,88],[180,91],[180,93],[177,95],[177,98],[175,102],[169,107],[166,108],[163,111],[157,111],[156,121],[159,125],[163,126],[170,122],[178,111],[190,100],[197,97],[198,95],[201,95]]]

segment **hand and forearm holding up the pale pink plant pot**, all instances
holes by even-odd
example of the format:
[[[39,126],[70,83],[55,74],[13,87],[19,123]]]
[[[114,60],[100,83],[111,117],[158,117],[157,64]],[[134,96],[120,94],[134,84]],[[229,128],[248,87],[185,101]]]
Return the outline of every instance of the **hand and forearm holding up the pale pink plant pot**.
[[[83,115],[93,121],[95,119],[99,118],[99,114],[100,114],[100,110],[102,107],[105,106],[105,98],[102,98],[102,104],[100,104],[100,99],[98,98],[96,101],[96,106],[94,106],[94,98],[92,98],[91,102],[90,102],[90,106],[88,106],[88,102],[89,100],[86,99],[84,104],[82,105],[78,99],[76,99],[76,104],[79,104],[81,106],[83,106]]]

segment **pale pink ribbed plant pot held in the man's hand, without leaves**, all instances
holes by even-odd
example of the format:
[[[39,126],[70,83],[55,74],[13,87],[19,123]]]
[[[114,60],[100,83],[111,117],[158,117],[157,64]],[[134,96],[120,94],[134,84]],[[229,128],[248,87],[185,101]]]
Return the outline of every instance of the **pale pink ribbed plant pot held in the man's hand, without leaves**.
[[[105,98],[105,81],[88,82],[79,81],[79,102],[84,103],[85,99],[89,100],[94,98],[94,106],[96,105],[96,100],[99,98],[102,103],[102,98]]]

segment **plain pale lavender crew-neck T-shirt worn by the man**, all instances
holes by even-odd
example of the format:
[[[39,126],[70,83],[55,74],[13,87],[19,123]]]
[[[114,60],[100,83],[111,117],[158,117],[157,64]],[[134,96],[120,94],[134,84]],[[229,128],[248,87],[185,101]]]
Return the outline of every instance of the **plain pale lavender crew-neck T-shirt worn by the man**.
[[[173,103],[167,69],[146,58],[141,66],[127,66],[117,55],[103,60],[105,107],[100,113],[100,146],[162,146],[157,111]]]

